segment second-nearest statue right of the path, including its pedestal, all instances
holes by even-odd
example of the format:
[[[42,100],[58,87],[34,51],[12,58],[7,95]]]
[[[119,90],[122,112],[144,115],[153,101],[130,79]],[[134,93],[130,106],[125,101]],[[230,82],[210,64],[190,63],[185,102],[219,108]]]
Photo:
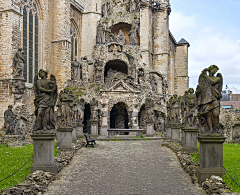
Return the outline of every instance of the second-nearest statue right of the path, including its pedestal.
[[[197,147],[197,109],[196,95],[194,89],[190,88],[185,92],[184,97],[185,121],[182,128],[182,146],[189,153],[198,151]]]

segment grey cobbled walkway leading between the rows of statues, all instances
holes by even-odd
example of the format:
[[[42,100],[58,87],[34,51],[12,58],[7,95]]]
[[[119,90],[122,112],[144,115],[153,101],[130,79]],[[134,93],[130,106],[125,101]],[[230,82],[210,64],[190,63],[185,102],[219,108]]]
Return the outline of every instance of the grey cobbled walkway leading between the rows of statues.
[[[160,141],[106,141],[83,148],[45,195],[202,195]]]

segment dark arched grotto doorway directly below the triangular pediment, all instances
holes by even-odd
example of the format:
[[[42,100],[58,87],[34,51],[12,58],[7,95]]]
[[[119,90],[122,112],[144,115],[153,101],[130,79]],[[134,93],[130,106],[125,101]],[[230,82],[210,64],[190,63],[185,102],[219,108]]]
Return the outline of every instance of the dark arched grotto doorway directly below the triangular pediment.
[[[110,128],[111,129],[128,129],[129,119],[126,104],[123,102],[113,106],[110,112]]]

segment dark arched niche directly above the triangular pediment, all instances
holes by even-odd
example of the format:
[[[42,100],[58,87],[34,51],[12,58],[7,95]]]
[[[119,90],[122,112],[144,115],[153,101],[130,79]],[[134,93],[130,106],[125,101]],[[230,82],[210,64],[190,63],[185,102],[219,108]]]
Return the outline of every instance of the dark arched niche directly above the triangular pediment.
[[[125,77],[128,74],[127,65],[121,60],[109,61],[105,66],[105,83],[114,82]]]

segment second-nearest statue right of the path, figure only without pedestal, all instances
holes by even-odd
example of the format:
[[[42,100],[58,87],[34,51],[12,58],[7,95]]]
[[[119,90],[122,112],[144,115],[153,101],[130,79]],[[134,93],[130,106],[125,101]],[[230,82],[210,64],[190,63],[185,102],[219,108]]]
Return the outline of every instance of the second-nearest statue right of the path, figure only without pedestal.
[[[186,105],[186,127],[196,127],[196,94],[190,88],[185,94]]]

